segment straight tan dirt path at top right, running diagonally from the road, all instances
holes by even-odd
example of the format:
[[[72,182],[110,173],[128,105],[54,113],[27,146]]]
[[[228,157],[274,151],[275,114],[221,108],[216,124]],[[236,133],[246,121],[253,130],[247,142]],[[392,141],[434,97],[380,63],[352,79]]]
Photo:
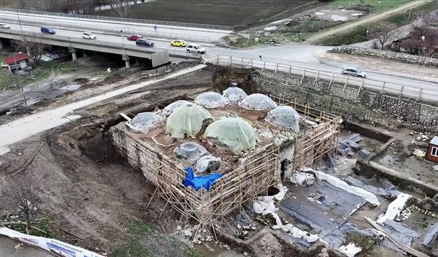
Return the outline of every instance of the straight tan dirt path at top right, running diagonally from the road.
[[[310,38],[307,38],[308,42],[317,42],[318,40],[321,40],[322,38],[326,38],[328,36],[333,36],[335,34],[339,34],[342,32],[345,32],[348,29],[352,29],[354,27],[357,27],[359,25],[363,25],[363,24],[367,24],[367,23],[371,23],[373,21],[378,21],[381,20],[391,14],[395,14],[397,12],[401,12],[403,10],[408,10],[410,8],[414,8],[417,5],[422,5],[423,3],[426,3],[426,0],[417,0],[417,1],[412,1],[411,3],[407,3],[404,5],[401,5],[399,8],[393,9],[393,10],[389,10],[387,12],[382,12],[381,14],[376,14],[376,15],[372,15],[366,19],[361,19],[360,21],[355,21],[352,23],[346,23],[346,25],[343,25],[341,27],[336,27],[334,29],[329,29],[326,32],[322,32],[320,34],[317,34],[315,36],[311,36]]]

